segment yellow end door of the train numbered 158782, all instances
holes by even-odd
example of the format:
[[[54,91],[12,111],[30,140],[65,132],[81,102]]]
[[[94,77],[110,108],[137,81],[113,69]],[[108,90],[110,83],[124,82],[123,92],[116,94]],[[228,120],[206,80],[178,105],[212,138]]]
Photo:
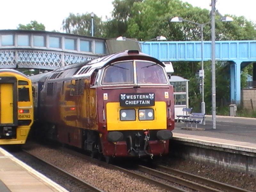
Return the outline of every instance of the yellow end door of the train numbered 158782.
[[[13,124],[13,84],[0,84],[0,123]]]

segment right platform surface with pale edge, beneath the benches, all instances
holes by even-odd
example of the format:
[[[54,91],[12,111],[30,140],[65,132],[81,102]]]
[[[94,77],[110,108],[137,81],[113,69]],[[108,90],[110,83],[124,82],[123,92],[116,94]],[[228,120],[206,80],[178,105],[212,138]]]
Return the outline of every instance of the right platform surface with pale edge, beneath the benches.
[[[197,125],[205,131],[183,130],[181,128],[186,127],[185,123],[175,123],[174,139],[207,145],[215,143],[225,148],[256,153],[256,118],[217,116],[216,129],[212,129],[212,116],[205,119],[205,125]]]

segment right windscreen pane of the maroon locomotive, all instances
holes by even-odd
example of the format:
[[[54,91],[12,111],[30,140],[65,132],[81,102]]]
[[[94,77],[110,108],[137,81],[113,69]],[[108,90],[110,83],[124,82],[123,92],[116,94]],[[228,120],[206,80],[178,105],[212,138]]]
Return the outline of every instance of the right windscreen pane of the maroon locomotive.
[[[150,62],[136,61],[138,84],[167,84],[163,68]]]

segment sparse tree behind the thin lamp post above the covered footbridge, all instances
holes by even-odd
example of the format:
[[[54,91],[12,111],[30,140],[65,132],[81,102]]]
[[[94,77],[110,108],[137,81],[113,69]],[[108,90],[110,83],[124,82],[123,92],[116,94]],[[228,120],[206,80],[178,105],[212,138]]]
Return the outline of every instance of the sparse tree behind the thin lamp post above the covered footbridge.
[[[74,14],[69,13],[69,16],[62,21],[62,29],[66,33],[77,35],[91,36],[92,18],[90,13]],[[94,14],[93,17],[94,36],[103,36],[103,23],[101,18]]]

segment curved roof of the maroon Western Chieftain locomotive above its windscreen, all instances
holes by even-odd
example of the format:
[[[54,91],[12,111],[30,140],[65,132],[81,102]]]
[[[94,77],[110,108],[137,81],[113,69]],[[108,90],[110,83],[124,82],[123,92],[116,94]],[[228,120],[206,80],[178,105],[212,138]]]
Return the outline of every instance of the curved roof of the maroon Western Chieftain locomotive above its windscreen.
[[[160,60],[158,60],[154,57],[151,57],[145,53],[139,52],[138,50],[126,50],[124,52],[118,52],[118,53],[106,55],[106,56],[100,57],[98,59],[85,61],[82,63],[76,63],[76,64],[68,65],[65,67],[60,67],[60,68],[55,69],[53,72],[71,69],[71,68],[79,68],[79,67],[83,67],[85,65],[91,65],[93,68],[102,68],[104,66],[109,65],[110,63],[113,63],[113,62],[116,62],[119,60],[125,60],[125,59],[127,59],[127,60],[131,60],[131,59],[150,60],[150,61],[156,62],[164,67],[164,64]]]

